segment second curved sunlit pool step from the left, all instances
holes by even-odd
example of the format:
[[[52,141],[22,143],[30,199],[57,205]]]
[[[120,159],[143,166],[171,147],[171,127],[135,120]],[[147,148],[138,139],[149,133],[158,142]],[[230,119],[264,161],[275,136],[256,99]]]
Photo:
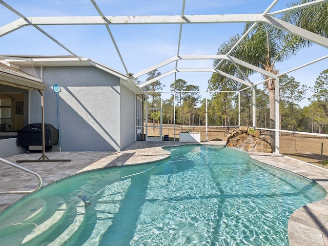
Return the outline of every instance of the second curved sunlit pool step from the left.
[[[55,210],[55,212],[53,213],[53,215],[48,218],[46,221],[40,223],[40,224],[36,224],[35,223],[35,228],[25,236],[25,238],[22,241],[22,244],[34,239],[35,237],[41,235],[42,233],[46,232],[47,230],[49,230],[55,223],[57,223],[65,214],[67,206],[66,206],[66,202],[63,198],[61,197],[51,197],[52,201],[55,206],[57,207],[57,209]]]

